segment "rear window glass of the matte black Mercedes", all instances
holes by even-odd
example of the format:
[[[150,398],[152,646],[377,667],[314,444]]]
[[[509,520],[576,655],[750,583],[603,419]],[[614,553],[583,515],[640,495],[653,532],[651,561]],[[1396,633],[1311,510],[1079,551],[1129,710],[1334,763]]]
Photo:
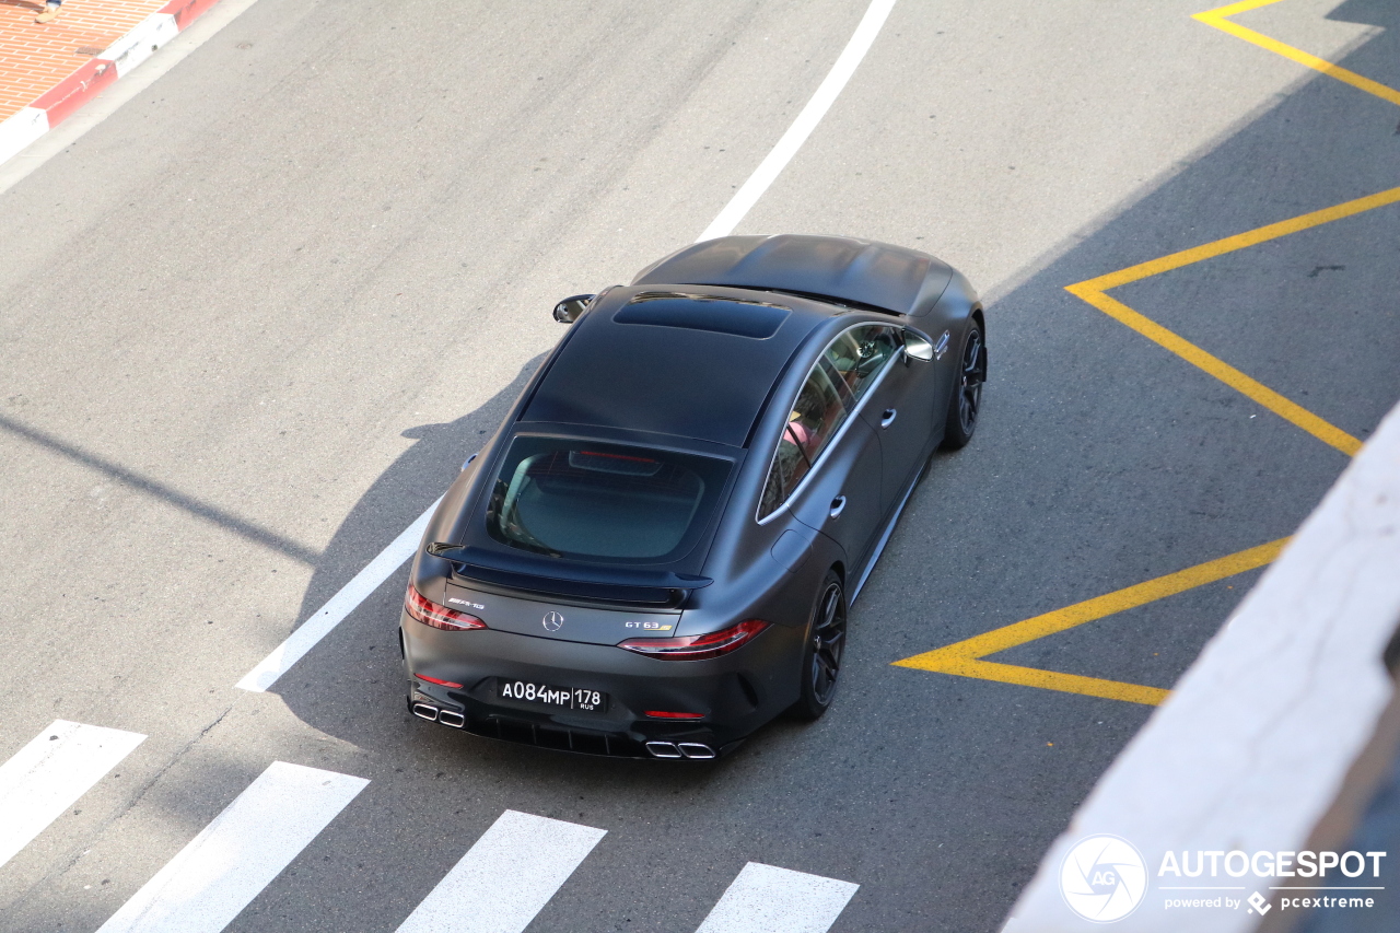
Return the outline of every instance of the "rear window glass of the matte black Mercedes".
[[[694,546],[729,474],[714,457],[517,437],[486,514],[496,541],[554,558],[662,563]]]

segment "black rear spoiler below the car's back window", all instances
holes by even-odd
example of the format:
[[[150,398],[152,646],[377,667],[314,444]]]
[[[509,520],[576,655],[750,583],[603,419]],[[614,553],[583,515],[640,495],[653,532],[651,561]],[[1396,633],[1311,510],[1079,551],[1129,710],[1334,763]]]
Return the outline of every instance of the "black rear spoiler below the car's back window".
[[[671,570],[634,570],[580,563],[540,566],[536,560],[491,553],[482,548],[434,542],[427,553],[452,565],[456,576],[468,580],[547,595],[574,597],[599,602],[626,602],[648,607],[679,607],[692,590],[714,583]]]

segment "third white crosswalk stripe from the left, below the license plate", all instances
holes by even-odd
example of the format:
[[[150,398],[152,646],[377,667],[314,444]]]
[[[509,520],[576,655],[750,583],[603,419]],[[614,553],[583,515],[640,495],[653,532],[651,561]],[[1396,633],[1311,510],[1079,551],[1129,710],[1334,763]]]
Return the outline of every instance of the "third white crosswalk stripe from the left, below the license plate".
[[[606,832],[507,810],[398,933],[521,933]]]

